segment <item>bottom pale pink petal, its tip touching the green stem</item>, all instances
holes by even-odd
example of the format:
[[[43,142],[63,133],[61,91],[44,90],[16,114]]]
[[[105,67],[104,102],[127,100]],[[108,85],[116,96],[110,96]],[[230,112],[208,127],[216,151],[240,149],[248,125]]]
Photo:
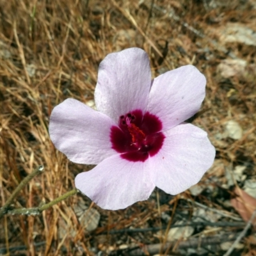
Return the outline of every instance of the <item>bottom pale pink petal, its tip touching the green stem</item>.
[[[155,188],[144,164],[111,156],[93,170],[79,173],[75,185],[102,209],[124,209],[147,200]]]

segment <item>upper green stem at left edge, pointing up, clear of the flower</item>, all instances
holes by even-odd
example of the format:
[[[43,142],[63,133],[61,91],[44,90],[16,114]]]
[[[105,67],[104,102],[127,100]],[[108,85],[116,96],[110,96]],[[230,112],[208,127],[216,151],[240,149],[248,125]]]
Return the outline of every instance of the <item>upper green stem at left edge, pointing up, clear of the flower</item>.
[[[39,173],[42,173],[42,170],[44,170],[44,166],[40,165],[38,166],[35,170],[33,170],[33,172],[31,172],[24,180],[22,180],[22,182],[20,182],[20,184],[17,186],[17,188],[13,191],[12,195],[8,198],[8,200],[6,201],[6,203],[3,205],[3,207],[0,208],[0,220],[1,218],[3,218],[4,214],[6,214],[6,212],[8,212],[8,208],[10,207],[10,205],[12,204],[14,198],[18,195],[18,193],[20,192],[20,190],[22,190],[24,188],[24,186],[26,186],[26,184],[28,184],[28,182],[33,179],[33,177],[35,177],[36,175],[38,175]]]

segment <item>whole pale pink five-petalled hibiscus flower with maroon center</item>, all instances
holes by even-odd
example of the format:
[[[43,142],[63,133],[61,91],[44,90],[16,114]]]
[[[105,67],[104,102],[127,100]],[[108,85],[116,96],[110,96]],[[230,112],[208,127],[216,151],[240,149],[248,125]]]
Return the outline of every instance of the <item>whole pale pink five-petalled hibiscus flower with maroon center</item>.
[[[184,121],[205,97],[206,80],[186,65],[151,79],[139,48],[108,54],[95,88],[97,111],[75,99],[52,110],[49,134],[70,161],[97,164],[79,173],[76,188],[103,209],[147,200],[154,188],[176,195],[211,167],[207,133]]]

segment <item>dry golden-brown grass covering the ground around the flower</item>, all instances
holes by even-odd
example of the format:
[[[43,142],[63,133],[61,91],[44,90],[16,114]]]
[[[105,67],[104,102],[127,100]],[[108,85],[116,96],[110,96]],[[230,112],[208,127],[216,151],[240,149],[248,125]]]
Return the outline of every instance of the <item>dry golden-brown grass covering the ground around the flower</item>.
[[[173,12],[175,15],[170,15]],[[194,123],[209,132],[217,150],[214,166],[200,182],[205,189],[198,196],[189,191],[177,196],[155,191],[147,202],[114,212],[99,209],[85,196],[77,195],[40,216],[6,215],[0,229],[0,248],[6,248],[6,252],[0,254],[9,255],[9,248],[16,246],[10,255],[95,255],[97,251],[108,254],[120,245],[164,243],[164,230],[162,235],[156,230],[131,234],[111,234],[111,230],[163,227],[182,218],[190,220],[194,201],[239,217],[227,203],[234,186],[223,188],[223,184],[227,184],[225,170],[237,165],[246,166],[246,179],[256,175],[256,52],[253,45],[225,44],[221,29],[233,22],[256,31],[254,0],[145,0],[140,4],[137,0],[1,0],[0,20],[2,205],[20,180],[40,164],[45,166],[44,173],[22,190],[13,207],[34,207],[63,195],[74,188],[77,173],[90,168],[70,163],[54,148],[48,134],[49,116],[56,104],[69,97],[92,100],[100,61],[109,52],[127,47],[148,52],[153,76],[189,63],[205,74],[204,108],[210,110]],[[223,79],[217,66],[232,58],[241,58],[247,65],[243,72]],[[223,133],[228,120],[241,125],[241,139],[220,140],[218,134]],[[85,232],[74,212],[81,198],[100,212],[99,227],[94,232]],[[163,212],[171,216],[169,221],[161,218]],[[225,216],[221,221],[234,222]],[[60,223],[72,232],[60,237]],[[198,227],[193,236],[239,230],[241,227],[228,224]],[[239,255],[256,255],[251,240],[242,243]],[[202,255],[223,255],[219,245],[207,248],[209,251]]]

